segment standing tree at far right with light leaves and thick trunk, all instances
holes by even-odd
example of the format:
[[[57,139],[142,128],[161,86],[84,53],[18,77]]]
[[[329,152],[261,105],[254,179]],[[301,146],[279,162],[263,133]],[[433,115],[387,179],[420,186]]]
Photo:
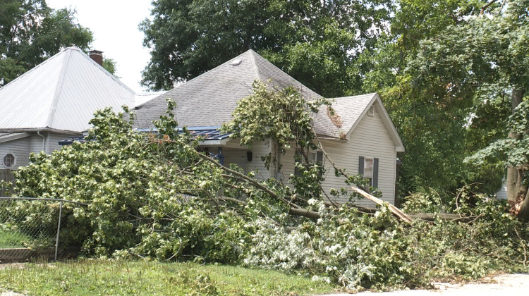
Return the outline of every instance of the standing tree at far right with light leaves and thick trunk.
[[[460,124],[468,123],[468,119],[462,120],[461,116],[470,115],[473,106],[490,108],[496,105],[498,111],[505,110],[505,105],[509,104],[507,96],[511,97],[511,111],[516,110],[529,85],[528,4],[522,0],[509,1],[508,6],[498,6],[488,14],[485,11],[463,25],[450,26],[446,32],[425,39],[417,57],[408,63],[410,82],[423,90],[437,88],[443,100],[435,101],[443,108],[456,106],[456,111],[460,109]],[[501,111],[499,116],[502,118],[499,123],[505,122],[506,113]],[[495,126],[492,130],[499,128]],[[495,140],[507,132],[509,130],[502,129],[483,140]],[[511,128],[509,137],[522,140],[524,134]],[[487,142],[481,145],[485,147]],[[508,195],[513,203],[525,199],[524,175],[523,164],[509,168]]]

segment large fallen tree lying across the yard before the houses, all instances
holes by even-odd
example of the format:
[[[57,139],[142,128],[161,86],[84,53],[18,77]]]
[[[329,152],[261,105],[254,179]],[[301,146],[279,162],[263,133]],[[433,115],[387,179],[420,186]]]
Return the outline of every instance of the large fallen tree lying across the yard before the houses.
[[[527,245],[528,228],[504,216],[497,201],[480,199],[470,211],[461,200],[459,221],[479,218],[453,223],[404,214],[384,202],[377,209],[337,204],[321,190],[300,195],[303,182],[321,180],[320,166],[300,161],[300,171],[314,173],[292,187],[221,166],[198,151],[198,140],[185,128],[178,132],[172,105],[156,123],[158,134],[135,132],[133,114],[126,120],[109,109],[98,111],[87,142],[32,155],[31,164],[17,171],[16,192],[90,204],[63,206],[61,241],[82,242],[93,257],[303,271],[351,290],[424,286],[430,278],[454,274],[476,278],[523,261],[518,249]],[[359,189],[365,186],[361,178],[346,180],[351,190],[379,201],[376,190]],[[0,210],[31,216],[35,204]],[[44,223],[56,223],[57,211],[44,211]]]

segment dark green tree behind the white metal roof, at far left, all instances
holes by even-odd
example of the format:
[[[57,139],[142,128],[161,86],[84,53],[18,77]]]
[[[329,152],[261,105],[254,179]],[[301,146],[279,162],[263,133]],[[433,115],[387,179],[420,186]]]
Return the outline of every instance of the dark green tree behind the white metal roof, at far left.
[[[61,47],[88,49],[92,32],[75,23],[75,11],[53,10],[44,0],[0,3],[0,85],[58,53]]]

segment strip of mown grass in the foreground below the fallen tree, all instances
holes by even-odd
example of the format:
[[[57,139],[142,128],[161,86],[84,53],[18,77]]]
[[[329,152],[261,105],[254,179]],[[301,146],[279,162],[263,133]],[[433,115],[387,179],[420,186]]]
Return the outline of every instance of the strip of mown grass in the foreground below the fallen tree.
[[[315,295],[336,288],[238,266],[102,260],[6,268],[0,287],[28,295]]]

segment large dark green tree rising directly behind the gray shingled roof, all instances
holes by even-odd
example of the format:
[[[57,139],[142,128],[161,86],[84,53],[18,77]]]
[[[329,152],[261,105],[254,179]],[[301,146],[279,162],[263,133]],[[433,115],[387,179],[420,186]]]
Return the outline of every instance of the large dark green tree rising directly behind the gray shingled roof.
[[[153,1],[142,83],[171,89],[254,49],[324,96],[359,90],[351,68],[385,28],[391,1]]]

